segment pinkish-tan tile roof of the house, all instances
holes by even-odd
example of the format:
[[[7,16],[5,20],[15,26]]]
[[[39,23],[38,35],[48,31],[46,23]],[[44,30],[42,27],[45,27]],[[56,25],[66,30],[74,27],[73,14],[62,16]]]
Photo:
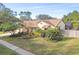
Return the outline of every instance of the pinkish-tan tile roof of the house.
[[[38,27],[38,23],[39,22],[46,22],[48,23],[49,25],[53,25],[53,26],[57,26],[58,23],[61,21],[60,19],[48,19],[48,20],[26,20],[26,21],[23,21],[23,25],[25,25],[26,27]]]

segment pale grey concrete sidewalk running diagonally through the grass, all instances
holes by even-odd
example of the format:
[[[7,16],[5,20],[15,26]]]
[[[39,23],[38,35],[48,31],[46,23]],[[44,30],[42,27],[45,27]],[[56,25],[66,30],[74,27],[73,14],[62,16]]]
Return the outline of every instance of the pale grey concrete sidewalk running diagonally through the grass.
[[[4,40],[0,40],[0,44],[8,47],[9,49],[12,49],[13,51],[17,52],[19,55],[34,55],[31,52],[28,52],[22,48],[19,48],[13,44],[10,44]]]

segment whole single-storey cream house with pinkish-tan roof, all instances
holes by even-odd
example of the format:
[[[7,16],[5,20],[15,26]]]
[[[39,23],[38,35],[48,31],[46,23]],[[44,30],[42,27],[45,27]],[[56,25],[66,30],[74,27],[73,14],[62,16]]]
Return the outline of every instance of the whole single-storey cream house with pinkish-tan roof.
[[[48,20],[25,20],[22,24],[26,28],[36,29],[40,28],[45,30],[49,27],[51,28],[60,28],[61,30],[65,29],[65,24],[60,19],[48,19]]]

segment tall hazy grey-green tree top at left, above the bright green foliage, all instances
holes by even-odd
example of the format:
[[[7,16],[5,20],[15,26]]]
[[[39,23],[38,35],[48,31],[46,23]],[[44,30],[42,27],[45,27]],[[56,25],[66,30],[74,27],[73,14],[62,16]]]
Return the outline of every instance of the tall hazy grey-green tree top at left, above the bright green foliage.
[[[0,21],[16,22],[18,21],[18,18],[14,16],[13,10],[7,8],[4,4],[0,3]]]

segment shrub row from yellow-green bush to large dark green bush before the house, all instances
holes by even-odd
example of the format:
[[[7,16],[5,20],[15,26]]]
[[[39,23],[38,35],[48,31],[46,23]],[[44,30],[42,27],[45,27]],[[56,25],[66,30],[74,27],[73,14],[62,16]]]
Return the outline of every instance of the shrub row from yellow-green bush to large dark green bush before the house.
[[[37,29],[34,32],[34,35],[36,35],[37,37],[41,36],[46,37],[50,40],[57,40],[57,41],[63,39],[61,31],[59,29],[52,29],[52,28],[49,28],[47,30]]]

